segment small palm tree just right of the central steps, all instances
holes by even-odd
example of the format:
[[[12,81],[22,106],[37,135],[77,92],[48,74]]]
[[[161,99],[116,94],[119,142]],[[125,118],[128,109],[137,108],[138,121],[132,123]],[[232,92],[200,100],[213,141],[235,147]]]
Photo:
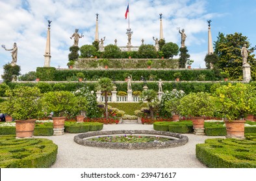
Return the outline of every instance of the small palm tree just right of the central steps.
[[[146,101],[151,118],[154,118],[154,112],[153,108],[159,104],[159,99],[157,98],[157,92],[155,92],[152,89],[142,91],[142,94],[140,94],[140,98],[142,98],[142,101]]]

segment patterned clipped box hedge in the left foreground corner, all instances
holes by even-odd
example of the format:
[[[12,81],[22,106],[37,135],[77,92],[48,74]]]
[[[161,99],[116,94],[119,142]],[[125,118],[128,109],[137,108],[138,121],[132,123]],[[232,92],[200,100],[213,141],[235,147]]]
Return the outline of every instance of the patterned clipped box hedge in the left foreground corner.
[[[1,168],[47,168],[57,158],[58,146],[47,139],[16,139],[0,136]]]

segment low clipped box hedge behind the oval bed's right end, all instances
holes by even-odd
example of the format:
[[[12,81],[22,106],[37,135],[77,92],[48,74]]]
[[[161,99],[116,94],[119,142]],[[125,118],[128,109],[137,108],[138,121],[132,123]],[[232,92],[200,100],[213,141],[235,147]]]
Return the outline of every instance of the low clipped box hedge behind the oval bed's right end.
[[[173,133],[192,133],[193,124],[191,121],[181,122],[155,122],[153,128],[157,131],[170,131]]]

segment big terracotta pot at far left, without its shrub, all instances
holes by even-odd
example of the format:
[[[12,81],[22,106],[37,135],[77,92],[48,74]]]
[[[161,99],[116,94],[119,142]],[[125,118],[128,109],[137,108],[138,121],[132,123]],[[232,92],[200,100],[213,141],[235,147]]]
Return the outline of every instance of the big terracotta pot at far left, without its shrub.
[[[16,120],[16,138],[31,138],[36,120]]]

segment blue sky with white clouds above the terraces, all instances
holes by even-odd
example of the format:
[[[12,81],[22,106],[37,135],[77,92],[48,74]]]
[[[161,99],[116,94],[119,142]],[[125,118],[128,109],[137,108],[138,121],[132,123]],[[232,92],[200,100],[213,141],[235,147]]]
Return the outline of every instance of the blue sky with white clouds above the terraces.
[[[79,47],[92,45],[96,30],[96,13],[99,14],[99,39],[106,37],[104,45],[127,45],[125,19],[127,0],[0,0],[0,45],[7,49],[18,46],[17,65],[21,74],[44,67],[44,52],[48,23],[51,20],[51,67],[68,68],[70,36],[79,29],[84,37]],[[185,29],[186,47],[192,68],[204,68],[208,50],[208,23],[211,19],[212,41],[218,33],[242,33],[251,47],[256,45],[256,0],[130,0],[131,44],[154,45],[153,36],[160,36],[159,14],[162,13],[164,39],[181,45],[177,27]],[[3,65],[10,63],[10,51],[0,47],[0,74]],[[1,80],[1,78],[0,78]]]

